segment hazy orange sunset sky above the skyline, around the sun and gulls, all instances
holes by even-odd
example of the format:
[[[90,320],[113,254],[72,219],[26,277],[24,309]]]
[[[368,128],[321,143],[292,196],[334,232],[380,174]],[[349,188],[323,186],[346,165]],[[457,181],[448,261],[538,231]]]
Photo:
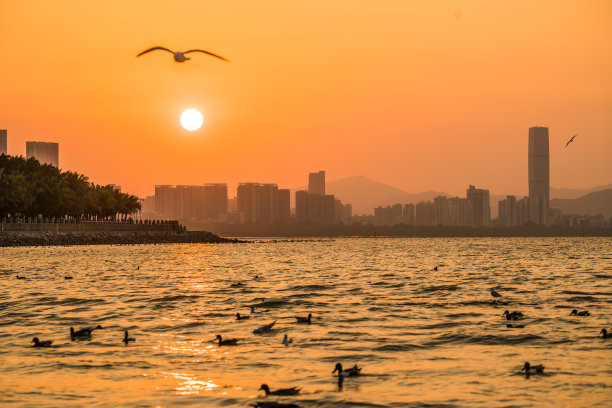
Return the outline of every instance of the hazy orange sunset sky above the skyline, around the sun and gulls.
[[[135,58],[154,45],[231,62]],[[553,186],[612,182],[611,1],[0,0],[9,154],[56,141],[63,169],[138,195],[320,169],[526,194],[536,125]]]

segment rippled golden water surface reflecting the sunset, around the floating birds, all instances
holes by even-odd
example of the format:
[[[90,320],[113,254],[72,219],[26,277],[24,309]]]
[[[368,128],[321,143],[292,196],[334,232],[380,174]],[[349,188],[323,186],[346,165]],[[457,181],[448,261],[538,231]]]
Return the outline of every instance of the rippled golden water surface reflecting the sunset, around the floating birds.
[[[301,407],[609,407],[611,312],[609,238],[0,248],[0,403],[246,407],[267,383]],[[364,375],[339,384],[336,362]]]

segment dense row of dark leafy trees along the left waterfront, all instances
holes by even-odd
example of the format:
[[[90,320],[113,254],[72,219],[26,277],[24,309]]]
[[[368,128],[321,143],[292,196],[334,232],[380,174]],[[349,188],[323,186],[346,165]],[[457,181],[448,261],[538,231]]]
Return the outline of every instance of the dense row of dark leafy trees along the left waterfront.
[[[116,220],[138,210],[138,197],[94,184],[82,174],[62,172],[35,158],[0,155],[0,218]]]

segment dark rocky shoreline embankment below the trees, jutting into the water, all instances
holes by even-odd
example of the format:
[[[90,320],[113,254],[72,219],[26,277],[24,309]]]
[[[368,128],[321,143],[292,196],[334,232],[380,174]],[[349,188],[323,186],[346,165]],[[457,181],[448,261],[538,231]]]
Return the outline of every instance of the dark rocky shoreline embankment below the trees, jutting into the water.
[[[206,231],[152,232],[0,232],[0,247],[54,245],[219,244],[240,243]]]

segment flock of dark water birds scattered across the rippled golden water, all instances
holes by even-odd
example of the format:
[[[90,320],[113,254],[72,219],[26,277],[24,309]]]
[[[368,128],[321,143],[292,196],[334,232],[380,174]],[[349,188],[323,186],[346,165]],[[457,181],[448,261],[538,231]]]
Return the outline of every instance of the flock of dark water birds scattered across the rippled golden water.
[[[138,269],[140,269],[140,267],[138,267]],[[434,270],[437,270],[437,269],[438,269],[437,266],[434,267]],[[17,279],[25,279],[25,277],[17,275]],[[72,277],[67,276],[66,279],[72,279]],[[255,276],[254,279],[259,279],[259,276]],[[237,283],[231,284],[230,286],[234,288],[240,288],[240,287],[243,287],[244,284],[242,282],[237,282]],[[494,304],[507,304],[499,300],[502,297],[502,295],[497,290],[495,290],[495,288],[491,288],[491,296],[493,297]],[[254,306],[251,306],[250,308],[251,310],[250,310],[249,315],[241,315],[240,312],[236,312],[236,320],[247,320],[251,318],[251,315],[257,313]],[[574,309],[571,311],[570,316],[586,317],[586,316],[590,316],[590,313],[587,310],[578,311],[577,309]],[[510,312],[509,310],[505,310],[504,313],[502,314],[502,317],[505,317],[506,320],[508,321],[519,321],[519,320],[523,320],[526,316],[522,312],[519,312],[519,311]],[[295,316],[295,320],[296,320],[296,323],[298,324],[312,324],[312,313],[308,313],[307,316]],[[266,333],[272,332],[274,326],[276,325],[276,322],[277,321],[274,320],[271,323],[268,323],[268,324],[265,324],[263,326],[256,328],[255,330],[253,330],[253,334],[266,334]],[[508,323],[506,327],[524,328],[525,326],[522,324]],[[70,328],[70,340],[71,341],[91,340],[92,333],[94,332],[94,330],[101,330],[101,329],[102,329],[102,326],[100,325],[97,325],[95,327],[86,327],[86,328],[82,328],[79,330],[74,330],[74,328],[71,327]],[[601,337],[604,339],[612,338],[612,329],[611,329],[611,332],[608,333],[608,331],[604,328],[601,330],[599,334],[601,334],[602,335]],[[238,342],[240,341],[240,339],[237,339],[237,338],[224,339],[223,336],[220,334],[216,335],[215,340],[217,341],[217,344],[219,347],[237,346]],[[121,341],[127,346],[130,343],[134,342],[135,339],[133,337],[130,337],[128,331],[125,330],[123,340]],[[38,337],[34,337],[32,339],[32,342],[34,343],[34,347],[52,347],[52,344],[53,344],[53,340],[41,341]],[[293,343],[293,339],[289,338],[289,336],[285,334],[283,337],[283,340],[281,341],[281,344],[288,346],[289,344],[292,344],[292,343]],[[542,364],[532,365],[530,362],[527,361],[523,365],[521,372],[524,371],[525,375],[527,376],[535,375],[535,374],[542,374],[544,373],[544,368],[545,367]],[[334,370],[332,371],[332,374],[336,374],[336,373],[337,373],[337,378],[338,378],[338,384],[339,386],[341,386],[344,378],[355,377],[355,376],[361,375],[361,367],[355,364],[354,366],[350,368],[344,368],[342,363],[338,362],[336,366],[334,367]],[[258,391],[264,391],[266,397],[269,395],[274,395],[274,396],[298,395],[300,390],[301,388],[299,387],[271,390],[267,384],[262,384],[261,387],[258,389]],[[298,405],[293,404],[293,403],[281,403],[281,402],[276,402],[276,401],[257,401],[252,406],[256,408],[299,408]]]

